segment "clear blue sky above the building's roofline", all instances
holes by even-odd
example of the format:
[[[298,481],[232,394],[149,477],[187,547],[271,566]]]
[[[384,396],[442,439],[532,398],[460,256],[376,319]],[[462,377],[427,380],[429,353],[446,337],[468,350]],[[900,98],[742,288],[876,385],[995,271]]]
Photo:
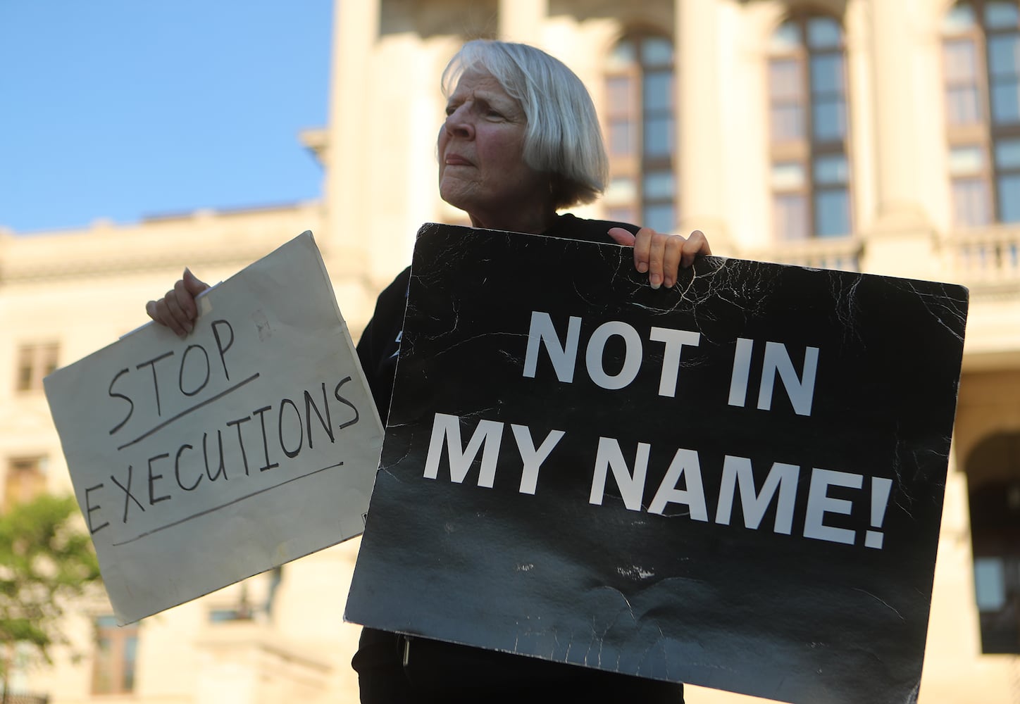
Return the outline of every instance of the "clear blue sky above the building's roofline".
[[[332,0],[0,0],[0,227],[318,198]]]

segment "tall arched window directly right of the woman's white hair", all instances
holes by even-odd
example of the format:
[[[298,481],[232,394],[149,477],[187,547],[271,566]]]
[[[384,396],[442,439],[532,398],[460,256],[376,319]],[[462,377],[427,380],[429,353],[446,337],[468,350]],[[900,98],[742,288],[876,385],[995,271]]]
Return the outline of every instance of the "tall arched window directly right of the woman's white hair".
[[[649,35],[619,42],[606,89],[607,216],[671,232],[677,220],[672,42]]]

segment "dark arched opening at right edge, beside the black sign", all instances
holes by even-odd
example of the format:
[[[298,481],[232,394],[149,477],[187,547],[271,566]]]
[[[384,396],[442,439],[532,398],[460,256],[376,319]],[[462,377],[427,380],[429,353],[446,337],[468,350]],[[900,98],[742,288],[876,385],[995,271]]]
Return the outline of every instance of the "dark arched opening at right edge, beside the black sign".
[[[978,444],[967,480],[981,650],[1020,653],[1020,433]]]

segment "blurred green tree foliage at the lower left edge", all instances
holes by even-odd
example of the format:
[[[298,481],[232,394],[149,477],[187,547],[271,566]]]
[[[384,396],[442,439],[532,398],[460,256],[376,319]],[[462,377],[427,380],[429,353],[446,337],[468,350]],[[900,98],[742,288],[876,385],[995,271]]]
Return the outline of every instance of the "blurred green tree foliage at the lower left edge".
[[[14,646],[48,661],[49,648],[66,642],[64,606],[99,579],[78,515],[72,496],[49,494],[0,513],[0,678]]]

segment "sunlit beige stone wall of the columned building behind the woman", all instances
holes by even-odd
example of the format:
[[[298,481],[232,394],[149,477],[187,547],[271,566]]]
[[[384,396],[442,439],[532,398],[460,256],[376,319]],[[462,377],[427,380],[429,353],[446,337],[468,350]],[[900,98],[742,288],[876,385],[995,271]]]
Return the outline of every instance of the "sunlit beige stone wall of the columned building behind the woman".
[[[766,57],[789,3],[778,0],[358,0],[338,3],[329,124],[306,137],[325,168],[321,203],[241,213],[194,213],[137,225],[18,236],[0,232],[0,461],[50,457],[49,485],[67,489],[55,431],[41,394],[15,394],[14,354],[24,341],[56,340],[74,361],[145,322],[142,304],[187,264],[223,279],[304,229],[316,233],[338,300],[355,333],[374,294],[408,262],[426,221],[463,222],[436,188],[435,138],[443,115],[439,75],[465,37],[534,43],[563,59],[602,109],[606,54],[631,28],[674,38],[677,71],[679,231],[704,229],[717,253],[960,282],[971,289],[965,374],[927,643],[922,704],[1020,701],[1017,658],[980,654],[973,594],[966,457],[984,437],[1020,429],[1020,270],[968,252],[1020,242],[1020,227],[954,231],[941,118],[939,23],[948,0],[818,0],[844,17],[852,130],[854,233],[777,243],[767,149]],[[581,214],[599,216],[595,204]],[[975,249],[976,248],[976,249]],[[147,618],[138,686],[125,701],[353,702],[349,662],[358,629],[343,624],[357,541],[289,564],[272,616],[213,626],[212,608],[235,603],[236,586]],[[249,581],[265,594],[265,576]],[[68,621],[90,652],[89,617]],[[27,674],[54,704],[107,701],[90,695],[88,657],[61,653]],[[691,688],[692,704],[756,701]]]

